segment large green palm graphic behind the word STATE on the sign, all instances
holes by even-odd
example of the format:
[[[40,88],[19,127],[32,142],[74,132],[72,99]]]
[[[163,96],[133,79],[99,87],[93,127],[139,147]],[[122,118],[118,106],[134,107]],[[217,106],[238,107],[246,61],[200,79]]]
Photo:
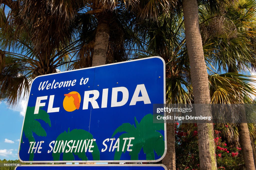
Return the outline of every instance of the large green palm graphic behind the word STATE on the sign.
[[[124,140],[123,138],[134,137],[131,144],[132,149],[130,151],[131,160],[138,160],[138,154],[140,153],[141,149],[143,148],[143,152],[146,154],[147,160],[155,160],[155,152],[156,154],[163,155],[165,149],[165,143],[163,135],[158,132],[160,130],[164,130],[163,123],[153,123],[153,115],[147,114],[145,115],[141,122],[138,123],[136,117],[134,117],[135,125],[131,125],[130,123],[123,123],[119,126],[113,133],[112,138],[118,132],[126,132],[119,136],[120,138],[120,146],[123,146]],[[115,151],[114,160],[120,160],[122,153],[125,153],[127,150],[127,144],[122,152],[122,149],[119,151]]]

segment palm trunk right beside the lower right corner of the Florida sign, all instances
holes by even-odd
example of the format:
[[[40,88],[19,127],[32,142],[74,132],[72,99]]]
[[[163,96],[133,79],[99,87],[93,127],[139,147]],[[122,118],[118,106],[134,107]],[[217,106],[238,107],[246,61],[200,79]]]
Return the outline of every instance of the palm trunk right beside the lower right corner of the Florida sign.
[[[167,167],[167,170],[175,170],[175,130],[173,123],[166,123],[166,140],[167,152],[162,160],[162,164]]]

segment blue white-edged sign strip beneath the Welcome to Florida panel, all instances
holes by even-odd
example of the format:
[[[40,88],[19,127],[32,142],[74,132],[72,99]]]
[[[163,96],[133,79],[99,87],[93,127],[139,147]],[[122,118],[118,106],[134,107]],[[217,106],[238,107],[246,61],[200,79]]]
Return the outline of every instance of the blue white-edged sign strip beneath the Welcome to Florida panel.
[[[15,170],[167,170],[163,164],[21,165]]]

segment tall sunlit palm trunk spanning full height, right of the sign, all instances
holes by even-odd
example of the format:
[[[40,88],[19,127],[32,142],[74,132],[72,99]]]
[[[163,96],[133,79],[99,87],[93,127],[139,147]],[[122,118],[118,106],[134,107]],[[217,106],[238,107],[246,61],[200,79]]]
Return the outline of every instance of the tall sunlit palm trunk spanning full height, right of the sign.
[[[194,102],[195,104],[210,104],[209,81],[199,30],[197,0],[183,0],[182,7],[190,70],[193,73],[191,74],[191,84]],[[206,109],[205,111],[208,112],[208,115],[211,115],[209,107],[204,109]],[[196,107],[198,115],[202,111]],[[217,169],[213,124],[200,123],[197,127],[200,169]]]

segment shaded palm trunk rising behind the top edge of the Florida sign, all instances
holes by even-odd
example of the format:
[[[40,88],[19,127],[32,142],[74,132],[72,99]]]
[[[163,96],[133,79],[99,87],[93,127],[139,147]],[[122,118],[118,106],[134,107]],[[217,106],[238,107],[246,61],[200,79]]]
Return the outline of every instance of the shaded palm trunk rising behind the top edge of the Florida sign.
[[[106,64],[106,55],[109,44],[109,20],[107,15],[99,14],[98,27],[95,36],[95,46],[92,57],[92,67]]]

